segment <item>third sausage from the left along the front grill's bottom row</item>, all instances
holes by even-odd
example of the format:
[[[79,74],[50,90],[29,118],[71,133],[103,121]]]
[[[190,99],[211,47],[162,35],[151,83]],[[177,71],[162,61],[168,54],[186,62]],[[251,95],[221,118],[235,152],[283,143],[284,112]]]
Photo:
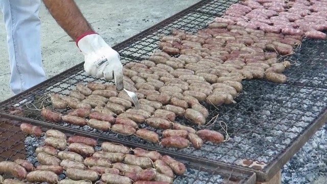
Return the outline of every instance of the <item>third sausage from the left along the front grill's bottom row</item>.
[[[99,174],[94,170],[83,170],[79,168],[69,168],[66,170],[66,176],[73,180],[97,181]]]

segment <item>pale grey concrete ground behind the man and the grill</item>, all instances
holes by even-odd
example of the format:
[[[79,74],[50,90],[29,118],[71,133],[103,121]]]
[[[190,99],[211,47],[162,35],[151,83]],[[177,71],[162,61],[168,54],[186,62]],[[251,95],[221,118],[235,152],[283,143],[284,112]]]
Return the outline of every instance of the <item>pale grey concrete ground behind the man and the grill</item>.
[[[119,43],[173,14],[199,2],[199,0],[183,1],[113,1],[97,0],[97,3],[76,1],[84,16],[108,42],[109,45]],[[151,3],[149,3],[151,2]],[[3,14],[0,13],[3,17]],[[41,6],[42,21],[42,59],[47,78],[53,77],[83,61],[83,56],[56,21]],[[6,42],[6,30],[0,21],[0,101],[13,96],[9,88],[10,67]],[[315,184],[326,183],[327,178],[317,178]]]

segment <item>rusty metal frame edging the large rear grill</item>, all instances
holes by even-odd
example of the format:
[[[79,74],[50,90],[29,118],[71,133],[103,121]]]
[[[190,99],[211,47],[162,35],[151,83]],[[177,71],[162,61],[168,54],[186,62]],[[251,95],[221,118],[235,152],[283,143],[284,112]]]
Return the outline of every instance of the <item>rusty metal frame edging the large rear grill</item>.
[[[188,9],[185,9],[175,15],[173,15],[172,17],[165,19],[161,22],[159,22],[157,25],[154,25],[153,27],[115,45],[113,47],[114,50],[116,51],[121,51],[123,49],[125,49],[126,47],[130,46],[131,44],[142,40],[143,38],[147,37],[148,35],[153,34],[154,32],[158,31],[161,28],[164,28],[165,26],[171,24],[172,22],[178,20],[179,18],[188,15],[189,13],[205,13],[203,11],[203,9],[201,9],[203,6],[210,4],[210,3],[216,3],[216,1],[213,0],[203,0],[191,7],[189,7]],[[236,2],[235,2],[236,3]],[[218,16],[221,15],[219,12],[213,12],[213,13],[207,13],[207,14],[203,14],[206,16]],[[124,54],[122,54],[124,57]],[[8,106],[10,104],[12,104],[12,102],[20,102],[23,101],[25,99],[30,98],[31,96],[34,96],[38,93],[41,93],[42,90],[44,90],[45,88],[48,88],[52,85],[54,85],[55,83],[71,76],[72,74],[76,74],[80,71],[83,70],[83,64],[84,62],[69,68],[68,70],[28,89],[27,91],[25,91],[24,93],[18,94],[16,96],[13,96],[12,98],[3,101],[2,103],[0,103],[1,108]],[[296,83],[291,83],[291,85],[296,85]],[[102,135],[98,135],[98,134],[94,134],[94,133],[89,133],[89,132],[83,132],[80,130],[76,130],[73,128],[67,128],[67,127],[62,127],[62,126],[57,126],[54,124],[50,124],[50,123],[46,123],[46,122],[41,122],[41,121],[35,121],[35,120],[31,120],[28,118],[24,118],[24,117],[19,117],[19,116],[15,116],[12,114],[8,114],[6,112],[0,112],[0,116],[4,117],[4,118],[8,118],[8,119],[12,119],[12,120],[17,120],[17,121],[23,121],[23,122],[27,122],[27,123],[31,123],[33,125],[39,125],[39,126],[43,126],[43,127],[49,127],[49,128],[56,128],[58,130],[67,130],[70,131],[72,133],[79,133],[80,135],[86,135],[86,136],[92,136],[92,137],[97,137],[100,139],[104,139],[104,140],[108,140],[111,142],[116,142],[116,143],[121,143],[121,144],[125,144],[125,145],[130,145],[131,143],[126,142],[126,141],[121,141],[118,139],[114,139],[114,138],[110,138],[108,139],[107,137],[104,137]],[[312,123],[309,127],[307,127],[307,129],[300,135],[297,137],[296,140],[294,140],[294,142],[291,144],[290,147],[288,147],[285,151],[283,151],[282,154],[278,155],[276,157],[276,159],[273,161],[273,163],[266,168],[264,171],[258,171],[258,170],[253,170],[253,169],[249,169],[249,168],[244,168],[241,166],[235,166],[235,165],[229,165],[229,164],[225,164],[225,163],[220,163],[220,162],[213,162],[213,160],[208,160],[208,159],[203,159],[203,158],[198,158],[195,156],[185,156],[185,155],[179,155],[178,153],[175,152],[171,152],[171,151],[165,151],[164,149],[156,149],[158,151],[163,151],[165,152],[165,154],[167,155],[173,155],[175,157],[181,158],[181,159],[186,159],[186,160],[190,160],[193,163],[202,163],[208,166],[212,166],[212,167],[220,167],[226,170],[237,170],[238,172],[245,172],[245,171],[251,171],[251,172],[255,172],[256,173],[256,179],[258,181],[261,182],[265,182],[268,181],[270,178],[272,178],[282,167],[283,165],[285,165],[288,160],[300,149],[300,147],[302,147],[309,139],[310,137],[324,124],[324,122],[327,121],[327,111],[324,111],[322,114],[320,114],[320,116],[315,120],[314,123]],[[135,145],[133,143],[133,145]],[[137,147],[141,147],[141,148],[148,148],[148,146],[144,146],[141,144],[136,144]],[[151,150],[151,148],[149,148]]]

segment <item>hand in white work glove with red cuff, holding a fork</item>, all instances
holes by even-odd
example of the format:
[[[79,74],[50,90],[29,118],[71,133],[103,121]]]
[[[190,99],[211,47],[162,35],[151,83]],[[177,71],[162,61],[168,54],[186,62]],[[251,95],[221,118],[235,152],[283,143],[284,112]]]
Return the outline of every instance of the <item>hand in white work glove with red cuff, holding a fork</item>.
[[[84,55],[87,74],[114,79],[117,90],[123,90],[123,65],[118,52],[114,51],[97,33],[86,33],[76,40]]]

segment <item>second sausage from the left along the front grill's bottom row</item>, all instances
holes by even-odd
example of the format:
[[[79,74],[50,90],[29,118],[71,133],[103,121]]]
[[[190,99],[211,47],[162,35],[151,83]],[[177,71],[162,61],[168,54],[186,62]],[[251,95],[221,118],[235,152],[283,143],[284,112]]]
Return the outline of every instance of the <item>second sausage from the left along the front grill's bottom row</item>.
[[[56,173],[52,171],[36,170],[36,171],[29,172],[26,176],[26,179],[29,182],[56,183],[59,180],[59,177]]]

